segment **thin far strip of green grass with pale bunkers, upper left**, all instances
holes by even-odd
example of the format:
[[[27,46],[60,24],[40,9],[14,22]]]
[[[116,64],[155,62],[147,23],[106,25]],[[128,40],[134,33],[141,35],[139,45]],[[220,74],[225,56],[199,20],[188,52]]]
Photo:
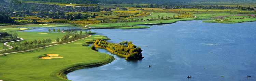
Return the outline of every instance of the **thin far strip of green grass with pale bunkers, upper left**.
[[[0,26],[6,27],[6,26]],[[70,24],[28,24],[28,25],[10,25],[7,27],[71,27]]]

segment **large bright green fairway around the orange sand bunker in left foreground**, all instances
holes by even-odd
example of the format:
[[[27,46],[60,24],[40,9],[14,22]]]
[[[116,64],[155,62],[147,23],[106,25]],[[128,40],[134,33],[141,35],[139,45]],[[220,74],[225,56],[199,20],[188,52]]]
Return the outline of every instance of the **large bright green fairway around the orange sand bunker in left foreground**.
[[[91,36],[85,39],[95,40]],[[110,63],[114,58],[108,54],[96,52],[88,46],[75,43],[85,43],[89,40],[78,40],[40,48],[22,53],[0,56],[0,77],[4,81],[66,81],[66,75],[60,72],[72,72],[77,69],[95,67]],[[39,59],[44,54],[59,54],[63,58]],[[84,67],[86,66],[86,67]],[[62,77],[62,78],[61,78]]]

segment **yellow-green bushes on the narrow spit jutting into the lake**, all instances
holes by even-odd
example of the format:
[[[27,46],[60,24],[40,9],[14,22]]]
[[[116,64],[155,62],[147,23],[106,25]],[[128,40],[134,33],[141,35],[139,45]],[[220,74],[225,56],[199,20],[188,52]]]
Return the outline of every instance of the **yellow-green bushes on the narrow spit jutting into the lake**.
[[[136,45],[132,44],[132,42],[123,41],[119,44],[116,43],[109,43],[103,40],[95,40],[94,43],[95,47],[97,48],[105,48],[110,52],[126,57],[126,59],[142,59],[142,50],[141,47],[137,47]]]

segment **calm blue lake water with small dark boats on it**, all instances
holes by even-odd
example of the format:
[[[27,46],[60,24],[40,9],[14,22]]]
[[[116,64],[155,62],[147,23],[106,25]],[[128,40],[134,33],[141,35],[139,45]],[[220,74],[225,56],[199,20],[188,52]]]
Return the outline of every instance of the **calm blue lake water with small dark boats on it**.
[[[108,36],[112,43],[132,41],[143,49],[145,58],[126,61],[100,49],[117,60],[76,70],[67,77],[72,81],[255,81],[256,22],[201,21],[147,29],[91,29],[97,35]]]

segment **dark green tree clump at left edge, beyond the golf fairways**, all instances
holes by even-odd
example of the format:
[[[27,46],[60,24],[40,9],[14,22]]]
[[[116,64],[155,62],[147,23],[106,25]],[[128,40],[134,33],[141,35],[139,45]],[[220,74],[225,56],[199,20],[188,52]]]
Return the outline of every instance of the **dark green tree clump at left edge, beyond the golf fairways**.
[[[0,14],[0,23],[15,23],[15,21],[8,14],[3,15],[2,13]]]

